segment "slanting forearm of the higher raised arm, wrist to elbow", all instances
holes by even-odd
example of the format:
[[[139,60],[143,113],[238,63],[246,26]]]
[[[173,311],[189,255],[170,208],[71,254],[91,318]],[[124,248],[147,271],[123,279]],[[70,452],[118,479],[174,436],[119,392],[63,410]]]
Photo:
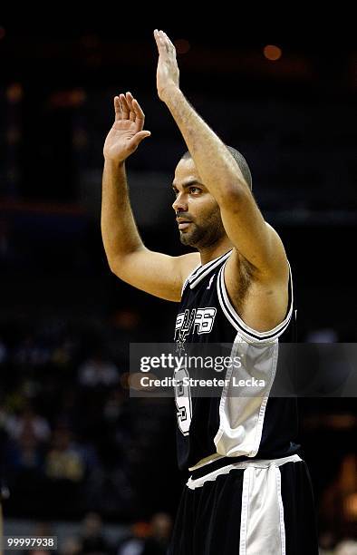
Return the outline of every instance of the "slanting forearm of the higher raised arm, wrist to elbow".
[[[202,182],[217,202],[227,199],[228,193],[244,190],[245,179],[236,161],[184,94],[171,87],[164,102],[182,133]]]

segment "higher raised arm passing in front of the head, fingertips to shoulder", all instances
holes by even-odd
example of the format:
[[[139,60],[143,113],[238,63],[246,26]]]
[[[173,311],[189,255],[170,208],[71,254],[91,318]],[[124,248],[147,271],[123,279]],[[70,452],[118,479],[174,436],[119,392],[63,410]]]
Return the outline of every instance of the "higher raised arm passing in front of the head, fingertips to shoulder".
[[[159,98],[169,108],[198,174],[217,200],[227,236],[262,277],[286,276],[281,239],[263,218],[241,170],[225,144],[192,108],[178,85],[176,51],[167,34],[155,31],[159,50]],[[283,263],[283,264],[282,264]]]

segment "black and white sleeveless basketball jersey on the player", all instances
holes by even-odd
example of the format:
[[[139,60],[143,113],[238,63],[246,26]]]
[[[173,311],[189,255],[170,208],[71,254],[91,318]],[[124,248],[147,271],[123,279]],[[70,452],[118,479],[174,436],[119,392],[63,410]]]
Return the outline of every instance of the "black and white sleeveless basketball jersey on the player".
[[[289,302],[285,319],[274,329],[257,332],[246,326],[227,295],[224,270],[231,250],[196,268],[182,288],[175,328],[178,350],[188,343],[231,344],[231,354],[244,351],[246,365],[227,369],[249,375],[254,368],[264,376],[265,387],[254,396],[230,394],[190,397],[189,388],[175,388],[178,416],[178,466],[209,468],[249,459],[275,459],[294,454],[297,407],[294,398],[269,397],[275,378],[279,342],[294,340],[293,280],[289,265]],[[234,459],[234,460],[233,460]]]

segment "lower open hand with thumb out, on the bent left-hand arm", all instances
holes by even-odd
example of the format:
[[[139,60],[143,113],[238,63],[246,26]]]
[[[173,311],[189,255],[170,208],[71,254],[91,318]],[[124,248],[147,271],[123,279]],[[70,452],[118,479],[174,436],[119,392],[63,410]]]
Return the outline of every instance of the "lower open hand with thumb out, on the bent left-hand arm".
[[[121,163],[151,133],[143,131],[145,115],[131,93],[115,96],[114,110],[115,121],[104,142],[103,154],[106,160]]]

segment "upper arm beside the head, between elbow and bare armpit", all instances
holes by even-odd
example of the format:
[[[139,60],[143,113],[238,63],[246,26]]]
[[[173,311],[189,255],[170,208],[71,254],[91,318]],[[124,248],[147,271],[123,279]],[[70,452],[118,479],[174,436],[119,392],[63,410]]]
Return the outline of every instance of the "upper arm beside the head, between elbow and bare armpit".
[[[221,206],[222,222],[236,250],[262,274],[275,274],[286,265],[282,240],[260,212],[250,191]]]

